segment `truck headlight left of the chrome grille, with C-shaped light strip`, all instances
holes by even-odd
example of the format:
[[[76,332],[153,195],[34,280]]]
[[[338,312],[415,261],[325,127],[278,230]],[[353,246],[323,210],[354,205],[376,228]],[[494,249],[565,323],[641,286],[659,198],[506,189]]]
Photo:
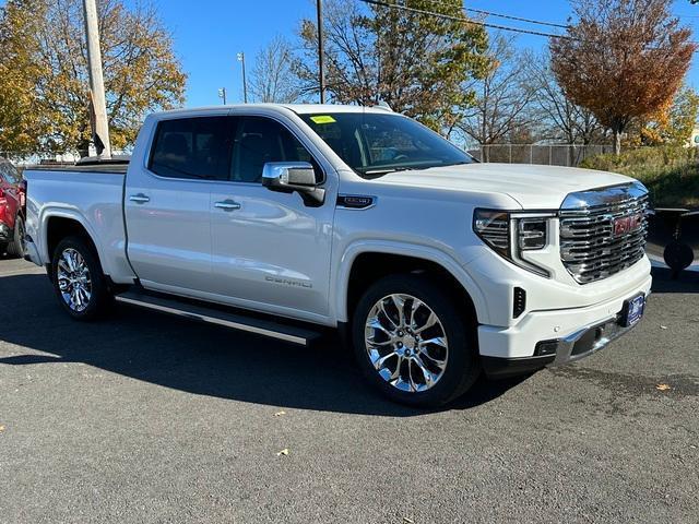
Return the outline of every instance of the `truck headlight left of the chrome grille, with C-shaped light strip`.
[[[549,219],[554,216],[555,213],[475,210],[473,230],[500,257],[548,278],[550,273],[546,269],[523,260],[521,253],[548,246]]]

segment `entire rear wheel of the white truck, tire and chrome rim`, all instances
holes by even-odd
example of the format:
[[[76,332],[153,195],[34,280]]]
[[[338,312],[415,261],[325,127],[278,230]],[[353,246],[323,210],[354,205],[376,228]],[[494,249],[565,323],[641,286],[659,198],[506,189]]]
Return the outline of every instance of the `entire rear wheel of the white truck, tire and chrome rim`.
[[[58,301],[75,320],[91,321],[109,308],[111,295],[92,245],[68,237],[54,251],[51,277]]]

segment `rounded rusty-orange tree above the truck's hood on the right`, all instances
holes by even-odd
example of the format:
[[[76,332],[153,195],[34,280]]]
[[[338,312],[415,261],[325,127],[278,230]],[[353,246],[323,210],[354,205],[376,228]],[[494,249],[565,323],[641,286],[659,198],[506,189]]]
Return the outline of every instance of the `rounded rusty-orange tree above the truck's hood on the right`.
[[[614,134],[666,106],[696,45],[670,0],[576,0],[576,22],[552,39],[552,69],[566,95]]]

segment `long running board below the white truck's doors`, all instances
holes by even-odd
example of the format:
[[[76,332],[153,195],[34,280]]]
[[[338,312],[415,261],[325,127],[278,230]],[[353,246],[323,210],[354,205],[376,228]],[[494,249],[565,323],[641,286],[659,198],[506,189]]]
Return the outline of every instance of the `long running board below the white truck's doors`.
[[[117,295],[115,299],[118,302],[130,306],[175,314],[210,324],[223,325],[225,327],[254,333],[256,335],[268,336],[301,346],[310,345],[311,341],[320,336],[320,333],[304,327],[286,325],[271,320],[249,318],[242,314],[230,313],[220,309],[144,293],[127,291]]]

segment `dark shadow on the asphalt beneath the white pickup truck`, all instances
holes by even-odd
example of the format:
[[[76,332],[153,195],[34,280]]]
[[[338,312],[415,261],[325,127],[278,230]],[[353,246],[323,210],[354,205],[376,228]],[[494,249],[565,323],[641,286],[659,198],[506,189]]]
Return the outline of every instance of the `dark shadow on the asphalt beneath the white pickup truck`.
[[[56,303],[44,275],[0,277],[0,341],[50,354],[9,356],[0,366],[84,362],[166,388],[271,406],[404,417],[427,413],[375,393],[336,337],[301,348],[129,307],[116,308],[102,322],[74,322]],[[481,379],[446,409],[487,403],[522,380]]]

